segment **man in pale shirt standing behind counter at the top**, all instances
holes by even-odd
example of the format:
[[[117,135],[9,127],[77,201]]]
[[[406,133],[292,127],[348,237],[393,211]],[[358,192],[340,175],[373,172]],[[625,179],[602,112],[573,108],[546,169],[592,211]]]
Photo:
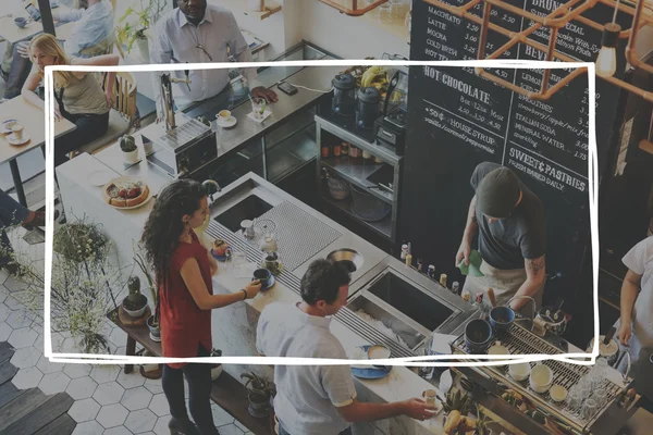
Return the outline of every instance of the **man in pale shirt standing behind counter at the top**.
[[[233,55],[237,62],[251,62],[251,51],[238,28],[233,13],[206,0],[178,0],[178,8],[159,20],[150,45],[150,62],[202,63],[227,62]],[[227,51],[229,49],[229,51]],[[276,101],[276,94],[267,89],[257,78],[256,69],[244,69],[252,97]],[[171,72],[185,78],[183,71]],[[230,83],[229,69],[190,70],[190,85],[173,84],[174,100],[183,108],[217,96]],[[160,74],[155,74],[155,89],[160,88]],[[161,92],[158,92],[157,113],[163,119]]]

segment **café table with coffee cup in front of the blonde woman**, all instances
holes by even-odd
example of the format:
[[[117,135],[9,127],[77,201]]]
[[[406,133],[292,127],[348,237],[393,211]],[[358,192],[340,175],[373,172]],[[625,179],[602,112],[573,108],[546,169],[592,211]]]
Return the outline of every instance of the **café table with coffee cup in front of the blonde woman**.
[[[24,126],[23,135],[29,137],[27,144],[13,146],[7,140],[5,135],[0,135],[0,164],[9,162],[19,202],[27,207],[27,199],[23,190],[23,182],[21,181],[21,172],[19,171],[16,159],[36,147],[42,147],[45,150],[46,122],[44,111],[25,101],[23,96],[17,96],[0,104],[0,123],[7,120],[16,120],[20,122]],[[65,119],[56,121],[54,137],[62,136],[75,128],[75,124]]]

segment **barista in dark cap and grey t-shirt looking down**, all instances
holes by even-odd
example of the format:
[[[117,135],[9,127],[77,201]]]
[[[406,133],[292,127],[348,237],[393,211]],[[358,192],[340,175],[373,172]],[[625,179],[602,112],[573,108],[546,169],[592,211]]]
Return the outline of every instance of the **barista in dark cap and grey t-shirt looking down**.
[[[478,232],[483,259],[480,271],[484,276],[468,276],[464,289],[477,295],[492,287],[500,306],[515,296],[528,296],[539,309],[546,277],[542,201],[513,171],[496,163],[479,164],[470,183],[476,195],[469,204],[456,266],[463,260],[469,265],[471,244]],[[510,308],[530,315],[532,303],[528,298],[517,298]]]

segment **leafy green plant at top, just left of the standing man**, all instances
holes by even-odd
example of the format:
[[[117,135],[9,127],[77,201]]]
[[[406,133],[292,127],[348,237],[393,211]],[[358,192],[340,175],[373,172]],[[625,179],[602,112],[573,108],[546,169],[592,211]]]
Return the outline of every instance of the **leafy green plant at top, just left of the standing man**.
[[[115,26],[118,42],[132,52],[134,45],[138,47],[144,63],[149,63],[148,30],[159,21],[168,0],[135,1],[121,16]]]

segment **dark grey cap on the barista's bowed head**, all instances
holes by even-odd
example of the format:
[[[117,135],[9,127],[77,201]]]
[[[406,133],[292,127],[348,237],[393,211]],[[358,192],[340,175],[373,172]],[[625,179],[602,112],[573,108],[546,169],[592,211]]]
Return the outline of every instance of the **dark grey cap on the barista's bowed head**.
[[[520,191],[517,175],[505,166],[497,167],[477,187],[477,210],[490,217],[507,217],[515,210]]]

